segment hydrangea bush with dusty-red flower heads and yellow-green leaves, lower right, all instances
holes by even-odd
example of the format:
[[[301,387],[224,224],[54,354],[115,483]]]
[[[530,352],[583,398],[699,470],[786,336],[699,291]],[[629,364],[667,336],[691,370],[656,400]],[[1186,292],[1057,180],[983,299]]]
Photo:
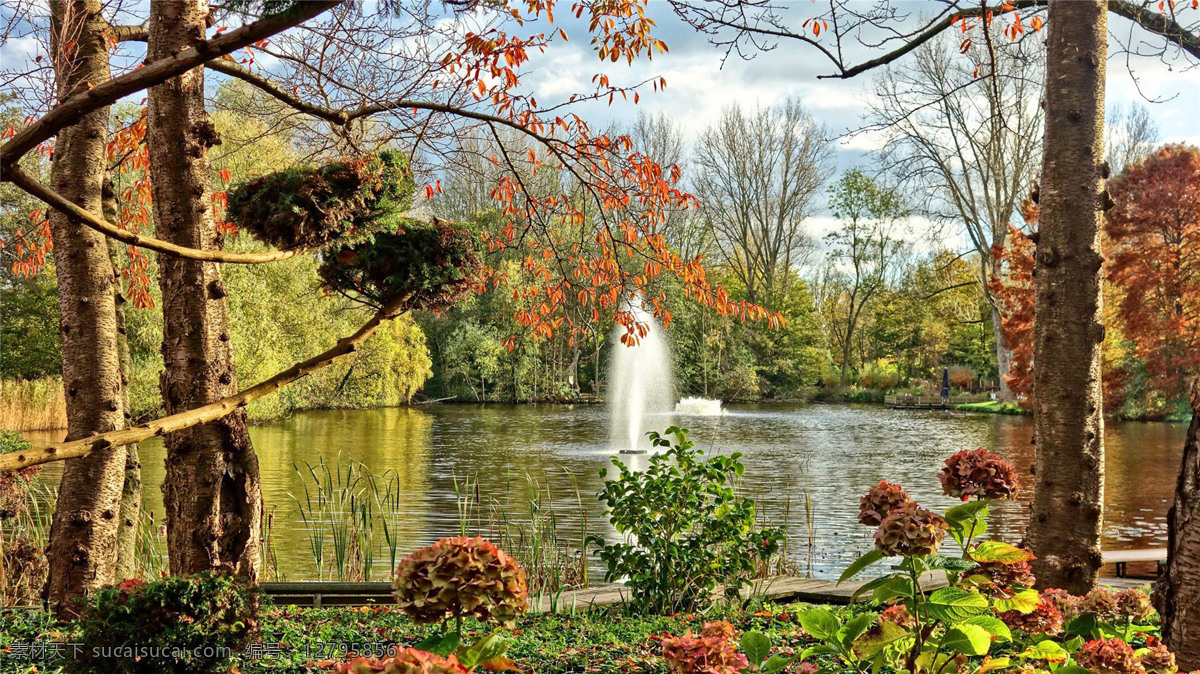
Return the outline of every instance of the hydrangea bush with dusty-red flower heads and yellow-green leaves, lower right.
[[[1039,594],[1028,564],[1032,554],[998,541],[977,542],[988,529],[989,503],[1015,498],[1010,463],[983,449],[962,451],[946,461],[938,477],[946,495],[966,501],[944,516],[922,508],[888,482],[862,498],[859,522],[877,526],[876,546],[839,582],[886,558],[900,558],[892,564],[898,571],[854,594],[870,592],[890,607],[847,620],[824,609],[805,610],[800,625],[820,643],[802,658],[832,657],[857,672],[1172,670],[1171,654],[1150,634],[1153,612],[1144,592]],[[976,500],[967,501],[972,497]],[[947,534],[965,550],[962,556],[940,554]],[[926,594],[922,577],[934,570],[946,573],[949,586]]]

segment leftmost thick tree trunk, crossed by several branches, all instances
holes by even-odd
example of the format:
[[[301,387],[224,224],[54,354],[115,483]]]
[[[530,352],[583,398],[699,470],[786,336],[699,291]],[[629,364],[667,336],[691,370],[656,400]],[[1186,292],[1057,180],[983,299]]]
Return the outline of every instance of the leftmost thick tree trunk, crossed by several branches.
[[[59,100],[109,79],[106,22],[98,0],[50,4],[52,53]],[[72,203],[101,209],[108,108],[79,119],[58,134],[52,185]],[[59,285],[62,381],[67,438],[121,428],[125,422],[113,265],[108,242],[59,211],[49,213]],[[125,447],[109,447],[67,461],[47,553],[44,598],[60,616],[74,613],[72,600],[114,580]]]

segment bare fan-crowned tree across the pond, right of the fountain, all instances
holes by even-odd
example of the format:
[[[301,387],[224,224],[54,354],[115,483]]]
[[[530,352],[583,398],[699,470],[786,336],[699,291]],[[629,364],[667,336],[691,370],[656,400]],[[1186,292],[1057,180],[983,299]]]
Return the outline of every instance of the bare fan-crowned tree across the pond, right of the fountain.
[[[696,195],[721,263],[751,302],[770,303],[804,261],[804,218],[828,171],[826,132],[798,101],[726,108],[695,150]]]

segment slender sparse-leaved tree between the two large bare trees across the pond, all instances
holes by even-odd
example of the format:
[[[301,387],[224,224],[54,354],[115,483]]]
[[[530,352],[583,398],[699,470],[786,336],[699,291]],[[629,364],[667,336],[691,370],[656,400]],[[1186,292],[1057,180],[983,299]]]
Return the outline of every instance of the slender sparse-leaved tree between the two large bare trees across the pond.
[[[832,314],[845,386],[864,312],[896,270],[904,247],[898,221],[907,210],[895,189],[880,186],[857,169],[846,171],[829,192],[829,209],[841,225],[826,235],[829,279],[822,305]]]

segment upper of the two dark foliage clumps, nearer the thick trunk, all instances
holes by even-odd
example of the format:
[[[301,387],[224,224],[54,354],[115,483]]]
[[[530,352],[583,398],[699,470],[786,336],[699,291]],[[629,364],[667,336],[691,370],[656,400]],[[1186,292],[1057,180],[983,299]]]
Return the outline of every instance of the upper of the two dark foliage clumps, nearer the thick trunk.
[[[280,249],[355,243],[394,231],[415,191],[407,158],[383,151],[246,182],[229,193],[227,217]]]

